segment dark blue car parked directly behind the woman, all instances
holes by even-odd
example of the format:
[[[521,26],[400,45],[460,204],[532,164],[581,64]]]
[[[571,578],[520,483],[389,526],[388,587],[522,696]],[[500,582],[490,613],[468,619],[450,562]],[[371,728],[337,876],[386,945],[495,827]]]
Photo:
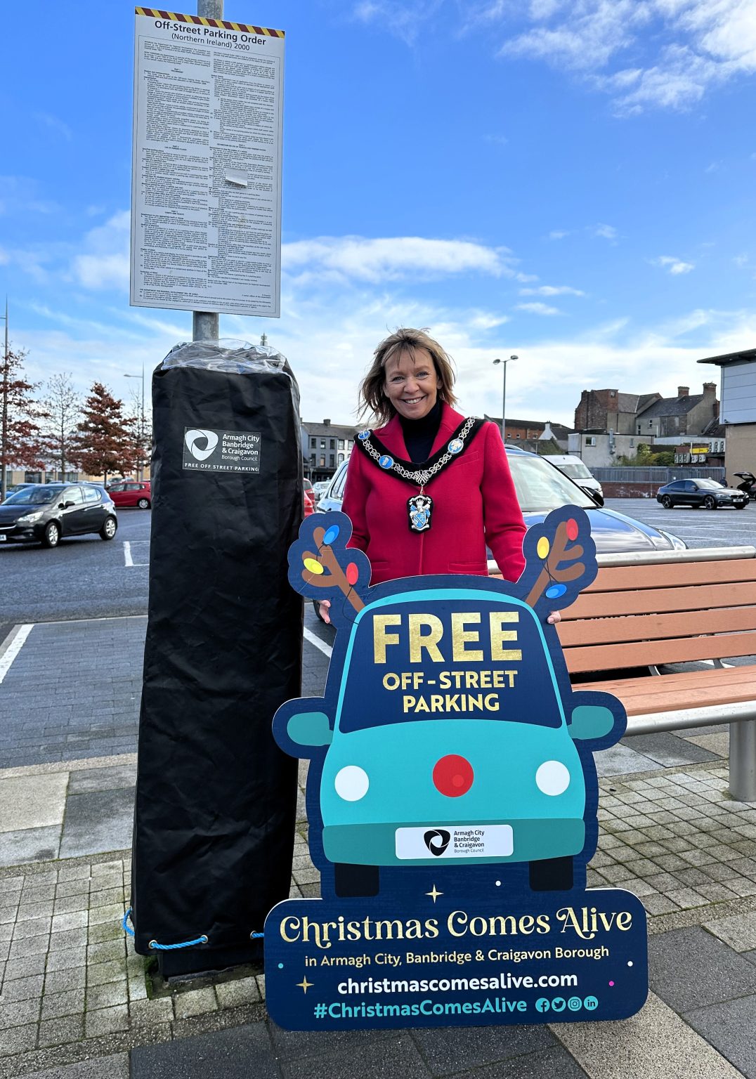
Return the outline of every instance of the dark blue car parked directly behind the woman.
[[[517,447],[507,448],[507,460],[514,480],[520,508],[525,524],[540,523],[546,515],[559,506],[580,506],[591,522],[591,535],[599,555],[631,554],[641,550],[684,550],[687,546],[677,536],[651,528],[632,517],[606,509],[603,497],[589,495],[581,484],[569,479],[551,457],[538,456]],[[318,510],[341,509],[346,482],[346,465],[339,465],[328,491],[318,504]]]

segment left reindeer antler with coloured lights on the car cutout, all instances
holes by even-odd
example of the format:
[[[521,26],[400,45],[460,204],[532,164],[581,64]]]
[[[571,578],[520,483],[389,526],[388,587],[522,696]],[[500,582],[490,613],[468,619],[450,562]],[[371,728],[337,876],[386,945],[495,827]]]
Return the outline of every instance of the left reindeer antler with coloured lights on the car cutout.
[[[352,521],[345,514],[313,514],[305,517],[299,540],[289,549],[292,588],[307,599],[330,600],[332,618],[346,607],[347,620],[365,606],[370,582],[367,556],[346,546],[350,536]],[[339,598],[346,603],[334,604]]]

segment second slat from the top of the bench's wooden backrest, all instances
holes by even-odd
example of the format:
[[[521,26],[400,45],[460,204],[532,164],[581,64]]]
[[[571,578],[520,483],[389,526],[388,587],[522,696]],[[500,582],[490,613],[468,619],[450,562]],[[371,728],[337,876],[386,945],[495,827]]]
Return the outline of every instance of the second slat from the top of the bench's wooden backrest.
[[[657,614],[701,611],[706,607],[745,606],[750,603],[756,604],[756,582],[752,581],[679,588],[640,588],[621,592],[583,592],[572,606],[562,612],[562,620],[647,614],[651,611]]]

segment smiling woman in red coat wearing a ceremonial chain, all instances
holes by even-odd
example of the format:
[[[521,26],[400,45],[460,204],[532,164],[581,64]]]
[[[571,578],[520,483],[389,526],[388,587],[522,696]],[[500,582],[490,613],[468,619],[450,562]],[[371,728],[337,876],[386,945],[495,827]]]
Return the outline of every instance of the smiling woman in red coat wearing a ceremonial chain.
[[[443,349],[415,329],[382,341],[362,381],[362,411],[382,425],[357,436],[342,508],[372,584],[421,573],[485,576],[486,544],[506,579],[522,573],[525,524],[501,436],[454,410],[453,384]]]

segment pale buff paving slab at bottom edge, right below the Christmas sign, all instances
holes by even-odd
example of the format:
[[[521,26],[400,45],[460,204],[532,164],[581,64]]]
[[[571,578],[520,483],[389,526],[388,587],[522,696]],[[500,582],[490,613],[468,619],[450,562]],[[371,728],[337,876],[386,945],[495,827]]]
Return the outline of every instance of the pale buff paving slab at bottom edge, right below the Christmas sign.
[[[740,1076],[652,993],[631,1019],[564,1023],[554,1025],[552,1030],[591,1079],[738,1079]]]

